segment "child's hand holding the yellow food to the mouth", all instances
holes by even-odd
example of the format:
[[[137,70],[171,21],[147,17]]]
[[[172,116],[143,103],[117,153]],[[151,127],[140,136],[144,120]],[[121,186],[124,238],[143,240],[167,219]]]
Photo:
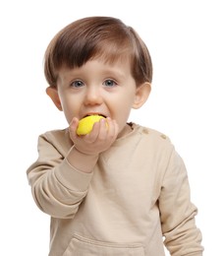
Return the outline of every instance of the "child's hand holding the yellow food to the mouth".
[[[79,120],[74,117],[69,127],[70,138],[76,149],[85,155],[98,155],[106,151],[118,136],[118,124],[109,117],[94,123],[91,132],[84,136],[77,135],[78,125]]]

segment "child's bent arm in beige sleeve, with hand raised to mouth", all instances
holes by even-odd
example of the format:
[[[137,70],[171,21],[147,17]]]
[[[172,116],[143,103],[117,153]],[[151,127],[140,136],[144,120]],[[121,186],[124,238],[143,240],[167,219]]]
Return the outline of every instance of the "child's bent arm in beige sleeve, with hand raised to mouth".
[[[39,157],[28,168],[28,181],[33,198],[44,213],[61,219],[73,218],[77,213],[87,193],[99,153],[110,147],[117,137],[117,126],[110,125],[114,136],[104,134],[107,137],[104,140],[98,136],[91,141],[94,134],[76,140],[72,133],[76,130],[72,129],[71,139],[75,145],[69,153],[63,153],[60,147],[63,138],[61,141],[48,138],[49,134],[39,137]],[[96,125],[94,132],[97,133],[98,129],[100,126],[97,128]]]

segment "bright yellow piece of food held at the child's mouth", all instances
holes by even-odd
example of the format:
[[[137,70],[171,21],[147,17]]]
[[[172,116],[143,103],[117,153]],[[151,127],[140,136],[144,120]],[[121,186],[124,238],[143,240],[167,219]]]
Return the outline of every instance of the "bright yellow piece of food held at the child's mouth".
[[[77,128],[77,134],[78,135],[85,135],[90,133],[92,130],[93,124],[98,122],[100,119],[105,118],[102,115],[88,115],[80,120],[79,126]]]

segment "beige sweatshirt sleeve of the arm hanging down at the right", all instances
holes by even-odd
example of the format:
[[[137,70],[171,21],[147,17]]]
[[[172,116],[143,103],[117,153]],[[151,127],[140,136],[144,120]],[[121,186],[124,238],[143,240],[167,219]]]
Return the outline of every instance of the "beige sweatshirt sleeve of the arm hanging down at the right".
[[[164,244],[172,256],[201,256],[201,233],[196,228],[196,206],[191,203],[185,164],[173,150],[159,198]]]

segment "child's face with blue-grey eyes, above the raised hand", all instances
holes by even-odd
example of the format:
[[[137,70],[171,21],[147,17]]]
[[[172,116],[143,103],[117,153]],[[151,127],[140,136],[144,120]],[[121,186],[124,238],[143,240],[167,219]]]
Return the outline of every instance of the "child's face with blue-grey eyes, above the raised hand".
[[[80,68],[62,68],[57,87],[59,104],[69,123],[75,116],[82,119],[101,114],[115,119],[121,133],[131,109],[142,104],[139,105],[141,87],[137,88],[128,61],[111,65],[90,60]]]

